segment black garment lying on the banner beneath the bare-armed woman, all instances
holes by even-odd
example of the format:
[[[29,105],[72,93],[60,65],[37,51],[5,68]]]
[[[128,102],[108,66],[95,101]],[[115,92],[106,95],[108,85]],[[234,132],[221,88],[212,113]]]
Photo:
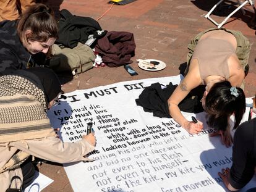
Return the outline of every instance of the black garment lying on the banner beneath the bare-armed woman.
[[[168,99],[173,94],[177,85],[169,83],[166,88],[162,89],[160,83],[153,83],[145,88],[138,99],[135,99],[137,106],[142,106],[145,112],[153,112],[156,117],[167,117],[169,115]],[[184,112],[202,112],[202,98],[204,87],[198,86],[179,103],[179,109]]]

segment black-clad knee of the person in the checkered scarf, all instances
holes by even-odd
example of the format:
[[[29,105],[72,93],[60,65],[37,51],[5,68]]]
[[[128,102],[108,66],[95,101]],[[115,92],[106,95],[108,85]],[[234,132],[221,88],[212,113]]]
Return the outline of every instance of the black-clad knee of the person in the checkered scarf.
[[[33,182],[35,175],[35,165],[33,165],[31,161],[25,161],[22,165],[20,165],[20,168],[22,169],[23,175],[22,190],[24,190]]]

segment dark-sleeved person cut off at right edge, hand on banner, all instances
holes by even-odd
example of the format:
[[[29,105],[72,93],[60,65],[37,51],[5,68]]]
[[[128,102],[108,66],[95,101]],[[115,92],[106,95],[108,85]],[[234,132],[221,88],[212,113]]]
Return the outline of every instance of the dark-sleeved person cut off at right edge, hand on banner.
[[[222,169],[218,174],[230,191],[237,191],[250,182],[256,167],[256,118],[244,122],[234,133],[231,169]],[[247,192],[255,192],[252,188]]]

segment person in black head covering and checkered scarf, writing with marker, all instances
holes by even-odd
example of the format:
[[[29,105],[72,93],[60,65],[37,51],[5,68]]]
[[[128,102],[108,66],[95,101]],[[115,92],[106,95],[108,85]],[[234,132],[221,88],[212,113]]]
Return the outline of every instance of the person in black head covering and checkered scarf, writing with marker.
[[[15,70],[0,77],[0,191],[33,182],[29,156],[58,163],[92,161],[84,156],[95,149],[94,133],[63,143],[51,127],[46,111],[60,93],[61,83],[50,69]]]

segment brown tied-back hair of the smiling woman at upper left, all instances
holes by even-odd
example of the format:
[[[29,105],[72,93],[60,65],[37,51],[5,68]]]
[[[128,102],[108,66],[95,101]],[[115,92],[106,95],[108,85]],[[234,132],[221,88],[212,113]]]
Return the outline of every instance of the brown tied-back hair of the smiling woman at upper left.
[[[27,38],[25,31],[31,30],[32,34]],[[58,24],[51,8],[44,4],[35,4],[23,12],[17,23],[17,32],[22,42],[44,42],[49,38],[58,38]]]

